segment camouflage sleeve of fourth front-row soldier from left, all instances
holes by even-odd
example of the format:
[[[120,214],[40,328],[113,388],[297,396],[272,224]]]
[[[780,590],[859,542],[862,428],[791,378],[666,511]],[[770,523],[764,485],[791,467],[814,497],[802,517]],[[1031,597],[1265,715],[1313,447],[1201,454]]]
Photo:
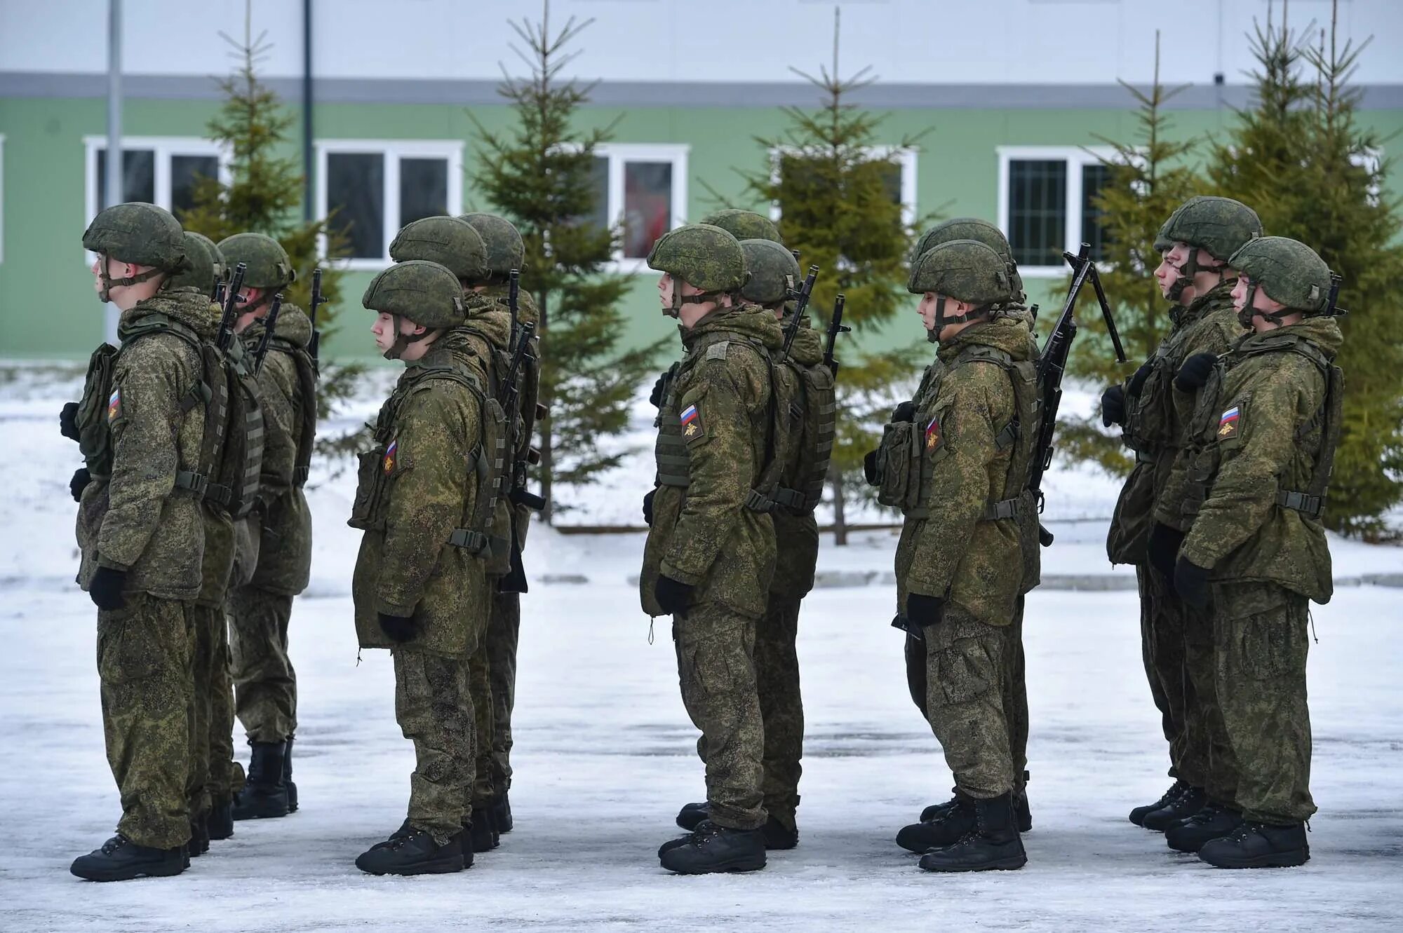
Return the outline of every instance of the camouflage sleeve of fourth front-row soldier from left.
[[[972,363],[946,375],[948,403],[937,406],[927,429],[927,457],[934,457],[929,516],[916,541],[906,588],[944,597],[964,558],[974,525],[989,504],[989,464],[999,455],[996,420],[1013,413],[1012,387],[996,366]],[[933,433],[932,429],[933,427]]]

